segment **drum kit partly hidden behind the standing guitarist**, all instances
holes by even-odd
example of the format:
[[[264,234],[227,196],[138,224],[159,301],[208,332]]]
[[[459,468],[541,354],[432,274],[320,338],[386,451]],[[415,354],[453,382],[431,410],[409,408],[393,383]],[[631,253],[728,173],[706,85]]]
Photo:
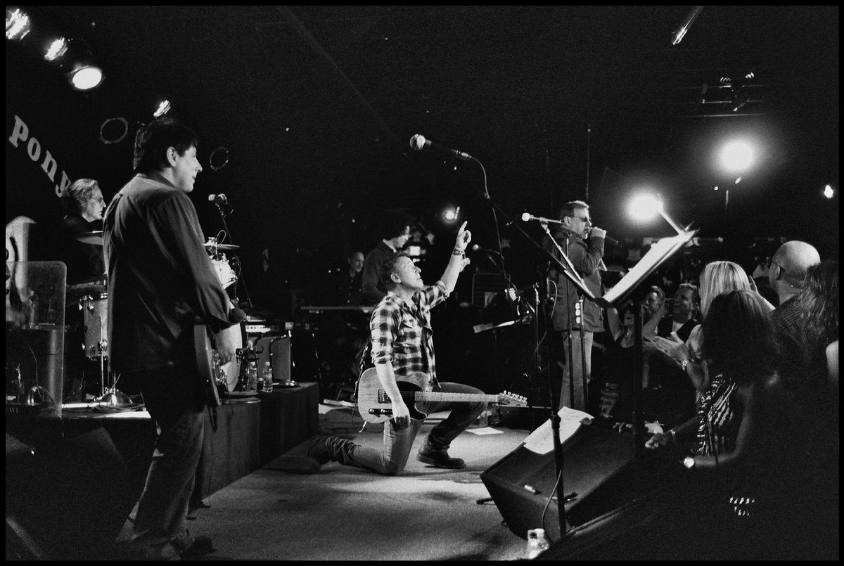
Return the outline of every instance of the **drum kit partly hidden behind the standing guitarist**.
[[[102,245],[102,231],[85,232],[78,234],[76,239],[85,244]],[[219,244],[216,238],[208,238],[203,245],[208,251],[211,267],[219,278],[223,288],[230,288],[237,283],[237,273],[231,262],[226,258],[223,251],[237,250],[238,245]],[[131,401],[122,391],[117,390],[116,381],[111,382],[108,377],[111,372],[108,369],[108,291],[106,288],[105,276],[92,279],[88,282],[68,285],[66,300],[68,305],[77,302],[79,310],[82,311],[84,325],[83,348],[84,355],[90,360],[100,362],[100,396],[95,402],[105,405],[128,405]],[[228,367],[235,365],[235,367]],[[225,373],[226,381],[231,388],[231,375],[235,375],[236,383],[236,362],[232,361],[221,368]]]

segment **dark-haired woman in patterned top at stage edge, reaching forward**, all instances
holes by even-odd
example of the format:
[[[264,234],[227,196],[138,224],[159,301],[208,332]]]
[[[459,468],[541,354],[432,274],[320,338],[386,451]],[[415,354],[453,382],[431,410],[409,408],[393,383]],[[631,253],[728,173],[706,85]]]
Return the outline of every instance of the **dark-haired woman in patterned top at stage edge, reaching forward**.
[[[783,536],[793,525],[782,501],[795,477],[781,466],[793,463],[797,435],[776,375],[770,309],[747,289],[717,294],[706,305],[701,357],[711,395],[697,416],[646,444],[694,447],[683,461],[690,481],[670,502],[674,520],[657,536],[677,536],[701,559],[794,553]]]

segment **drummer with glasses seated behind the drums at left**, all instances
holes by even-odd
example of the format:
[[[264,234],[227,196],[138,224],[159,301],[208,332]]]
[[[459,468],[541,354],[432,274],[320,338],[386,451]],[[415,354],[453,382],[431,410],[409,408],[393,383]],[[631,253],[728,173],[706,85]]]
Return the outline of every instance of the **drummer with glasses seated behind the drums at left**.
[[[62,255],[59,259],[68,266],[68,286],[105,283],[102,216],[106,201],[99,184],[93,179],[73,181],[61,202],[65,215],[58,249]]]

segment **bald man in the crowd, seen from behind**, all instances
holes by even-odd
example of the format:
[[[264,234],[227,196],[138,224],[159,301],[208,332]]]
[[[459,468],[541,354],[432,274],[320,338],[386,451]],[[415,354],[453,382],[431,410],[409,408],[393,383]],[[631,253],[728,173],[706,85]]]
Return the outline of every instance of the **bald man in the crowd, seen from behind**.
[[[800,323],[802,312],[798,294],[806,283],[809,267],[820,263],[820,254],[814,246],[792,240],[781,245],[771,257],[768,267],[768,282],[780,299],[780,305],[771,313],[771,320],[777,337],[782,341],[782,369],[799,371],[803,358],[809,352],[809,344]]]

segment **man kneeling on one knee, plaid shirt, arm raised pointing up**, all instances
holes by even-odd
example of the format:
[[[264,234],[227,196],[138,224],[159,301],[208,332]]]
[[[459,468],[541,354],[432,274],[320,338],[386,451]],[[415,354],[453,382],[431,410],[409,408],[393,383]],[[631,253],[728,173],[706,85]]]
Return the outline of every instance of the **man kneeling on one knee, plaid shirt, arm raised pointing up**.
[[[451,411],[451,414],[431,429],[416,459],[441,468],[466,466],[460,458],[448,455],[448,447],[484,412],[487,402],[483,391],[474,387],[436,380],[430,310],[454,290],[457,277],[468,263],[465,250],[471,240],[472,234],[464,222],[457,231],[457,241],[446,271],[439,281],[430,286],[422,283],[421,270],[408,256],[398,254],[381,265],[381,284],[387,289],[387,296],[372,311],[370,320],[371,357],[381,390],[376,392],[377,386],[364,387],[363,390],[359,387],[359,398],[360,395],[369,398],[366,391],[371,390],[371,395],[380,396],[380,400],[376,399],[369,405],[375,407],[381,401],[381,405],[389,407],[372,409],[373,412],[389,415],[389,420],[384,423],[384,445],[378,450],[336,436],[316,439],[307,452],[308,464],[313,471],[318,471],[327,461],[338,461],[389,476],[396,475],[407,464],[416,434],[425,422],[425,414],[440,411]],[[371,371],[364,374],[372,375]],[[405,386],[405,391],[402,391],[400,385],[410,386]],[[418,392],[407,396],[409,389],[449,396],[420,399]],[[462,395],[468,399],[455,401]],[[414,396],[417,399],[415,403]]]

